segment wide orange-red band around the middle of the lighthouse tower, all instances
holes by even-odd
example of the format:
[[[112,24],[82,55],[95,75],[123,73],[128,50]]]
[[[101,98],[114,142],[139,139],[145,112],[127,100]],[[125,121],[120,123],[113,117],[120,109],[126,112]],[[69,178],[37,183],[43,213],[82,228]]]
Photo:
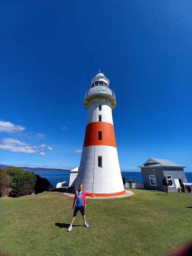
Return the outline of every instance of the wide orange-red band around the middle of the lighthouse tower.
[[[99,131],[102,132],[102,139],[99,140]],[[83,147],[87,146],[116,146],[114,127],[111,123],[93,122],[88,123],[85,130]]]

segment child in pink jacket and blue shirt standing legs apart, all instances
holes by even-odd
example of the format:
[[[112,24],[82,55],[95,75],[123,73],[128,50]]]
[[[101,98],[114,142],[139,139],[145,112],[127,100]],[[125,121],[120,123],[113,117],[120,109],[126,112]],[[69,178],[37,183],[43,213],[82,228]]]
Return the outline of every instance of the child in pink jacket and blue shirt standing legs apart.
[[[67,229],[68,232],[71,231],[72,229],[72,223],[74,222],[78,211],[80,211],[82,214],[84,227],[89,227],[89,225],[85,220],[85,207],[86,207],[86,195],[85,195],[85,191],[83,190],[83,184],[81,183],[79,184],[78,191],[75,191],[75,196],[74,196],[73,206],[72,206],[72,209],[74,212],[73,212],[71,224]]]

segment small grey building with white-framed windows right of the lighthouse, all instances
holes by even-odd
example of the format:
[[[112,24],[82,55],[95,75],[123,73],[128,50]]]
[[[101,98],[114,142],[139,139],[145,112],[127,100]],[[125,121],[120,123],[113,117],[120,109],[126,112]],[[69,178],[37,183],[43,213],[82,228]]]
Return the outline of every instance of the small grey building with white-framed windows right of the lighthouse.
[[[145,189],[164,191],[162,180],[167,177],[169,192],[179,192],[181,184],[187,182],[183,168],[186,166],[179,165],[167,159],[149,158],[141,168],[143,183]]]

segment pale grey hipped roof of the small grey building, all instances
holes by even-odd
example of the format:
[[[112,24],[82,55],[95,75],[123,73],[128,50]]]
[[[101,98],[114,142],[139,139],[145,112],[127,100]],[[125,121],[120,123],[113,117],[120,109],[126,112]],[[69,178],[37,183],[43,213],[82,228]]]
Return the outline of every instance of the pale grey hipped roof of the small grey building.
[[[186,166],[180,165],[174,162],[171,162],[168,159],[159,159],[159,158],[149,158],[143,165],[139,165],[138,167],[183,167]]]

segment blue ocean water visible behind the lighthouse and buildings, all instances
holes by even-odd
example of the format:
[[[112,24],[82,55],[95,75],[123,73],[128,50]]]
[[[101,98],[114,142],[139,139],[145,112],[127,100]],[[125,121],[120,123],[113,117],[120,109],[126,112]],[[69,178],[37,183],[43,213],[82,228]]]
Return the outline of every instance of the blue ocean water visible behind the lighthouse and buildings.
[[[51,182],[53,188],[56,188],[56,184],[59,182],[68,182],[70,171],[33,171],[42,178],[46,178]],[[192,182],[192,172],[185,172],[188,182]],[[121,172],[121,176],[124,176],[126,180],[134,180],[137,183],[143,182],[141,172]]]

